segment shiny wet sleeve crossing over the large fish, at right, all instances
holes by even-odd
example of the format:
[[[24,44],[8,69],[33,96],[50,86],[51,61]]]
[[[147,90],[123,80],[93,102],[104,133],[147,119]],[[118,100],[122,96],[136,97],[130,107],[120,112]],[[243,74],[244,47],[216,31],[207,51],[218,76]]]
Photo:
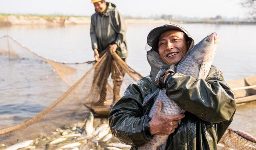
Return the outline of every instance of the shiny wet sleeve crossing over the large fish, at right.
[[[222,72],[214,67],[205,80],[173,74],[167,81],[166,95],[182,109],[210,123],[230,120],[236,110],[232,90]]]

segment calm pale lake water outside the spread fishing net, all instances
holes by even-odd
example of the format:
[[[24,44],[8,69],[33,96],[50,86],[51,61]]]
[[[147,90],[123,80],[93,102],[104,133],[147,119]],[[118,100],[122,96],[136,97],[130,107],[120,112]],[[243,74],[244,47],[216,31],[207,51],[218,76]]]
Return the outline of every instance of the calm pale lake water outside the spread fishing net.
[[[162,24],[139,24],[127,26],[129,56],[127,64],[148,75],[150,66],[146,60],[146,37],[148,32]],[[233,80],[256,74],[256,26],[180,24],[198,43],[206,34],[217,32],[220,40],[214,65],[224,74],[225,80]],[[59,62],[85,62],[93,60],[90,42],[90,26],[12,26],[0,28],[0,36],[9,35],[34,52]],[[0,100],[0,105],[1,105]],[[11,103],[10,103],[11,104]],[[38,112],[42,110],[37,108]],[[32,108],[24,108],[26,109]],[[11,110],[12,111],[12,110]],[[29,115],[29,111],[27,112]],[[245,130],[256,136],[256,103],[238,106],[232,128]],[[6,114],[0,114],[6,115]],[[247,118],[246,118],[247,117]],[[246,120],[246,121],[244,121]]]

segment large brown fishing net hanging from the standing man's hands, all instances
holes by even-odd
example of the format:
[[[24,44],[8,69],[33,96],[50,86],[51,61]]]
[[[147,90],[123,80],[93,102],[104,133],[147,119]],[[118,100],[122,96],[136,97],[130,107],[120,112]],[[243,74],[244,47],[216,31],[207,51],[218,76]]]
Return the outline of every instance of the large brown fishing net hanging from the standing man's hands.
[[[30,84],[28,87],[30,91],[29,93],[22,91],[24,92],[24,100],[18,101],[31,102],[36,98],[36,101],[40,102],[46,101],[47,98],[52,102],[42,112],[27,121],[10,126],[2,125],[0,143],[9,144],[34,138],[40,134],[49,134],[57,127],[84,120],[92,106],[94,106],[95,112],[106,114],[110,110],[110,104],[113,101],[112,91],[114,84],[116,84],[116,81],[112,82],[112,78],[114,78],[111,78],[112,75],[108,77],[109,74],[121,72],[120,70],[126,71],[122,77],[124,82],[120,86],[121,94],[128,84],[142,77],[129,68],[115,52],[110,52],[110,50],[106,50],[101,61],[92,66],[88,63],[62,64],[43,58],[7,36],[0,39],[0,45],[1,67],[4,68],[4,74],[1,75],[1,78],[10,78],[10,80],[2,81],[5,84],[2,88],[15,90],[24,86],[24,82],[18,83],[13,79],[25,79]],[[120,63],[117,63],[118,61]],[[25,77],[20,77],[20,74]],[[80,80],[78,80],[79,78]],[[7,84],[15,86],[8,86]],[[72,86],[69,87],[69,85]],[[103,88],[106,88],[106,95],[103,97],[106,97],[107,104],[97,103],[102,97],[100,91]],[[67,91],[65,92],[65,90]],[[1,90],[1,92],[1,95],[4,95],[1,99],[5,102],[21,99],[20,95],[16,95],[15,92],[10,93],[15,94],[14,96],[8,95],[6,91]],[[38,94],[36,95],[36,93]],[[36,96],[31,96],[33,94]]]

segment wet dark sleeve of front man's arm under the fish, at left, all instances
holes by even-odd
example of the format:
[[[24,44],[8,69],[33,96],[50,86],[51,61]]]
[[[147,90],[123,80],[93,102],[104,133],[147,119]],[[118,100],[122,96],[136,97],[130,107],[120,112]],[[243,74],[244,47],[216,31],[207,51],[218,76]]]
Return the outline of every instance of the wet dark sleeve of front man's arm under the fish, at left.
[[[121,142],[140,145],[152,137],[149,117],[144,115],[142,103],[147,94],[152,94],[152,82],[149,78],[132,83],[109,114],[110,130]]]

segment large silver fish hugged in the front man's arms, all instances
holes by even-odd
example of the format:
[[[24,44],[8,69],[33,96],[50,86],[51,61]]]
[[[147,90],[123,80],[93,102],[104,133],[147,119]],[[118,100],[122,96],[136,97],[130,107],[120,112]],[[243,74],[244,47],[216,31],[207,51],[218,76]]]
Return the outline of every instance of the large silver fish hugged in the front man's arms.
[[[212,33],[201,40],[194,48],[189,50],[176,67],[176,72],[192,76],[197,79],[205,79],[213,62],[218,44],[218,35]],[[166,96],[166,89],[160,89],[156,100],[162,102],[162,112],[165,114],[180,114],[184,112],[176,102]],[[156,111],[156,100],[150,110],[152,118]],[[156,134],[145,144],[139,146],[139,150],[165,150],[166,140],[169,135]]]

